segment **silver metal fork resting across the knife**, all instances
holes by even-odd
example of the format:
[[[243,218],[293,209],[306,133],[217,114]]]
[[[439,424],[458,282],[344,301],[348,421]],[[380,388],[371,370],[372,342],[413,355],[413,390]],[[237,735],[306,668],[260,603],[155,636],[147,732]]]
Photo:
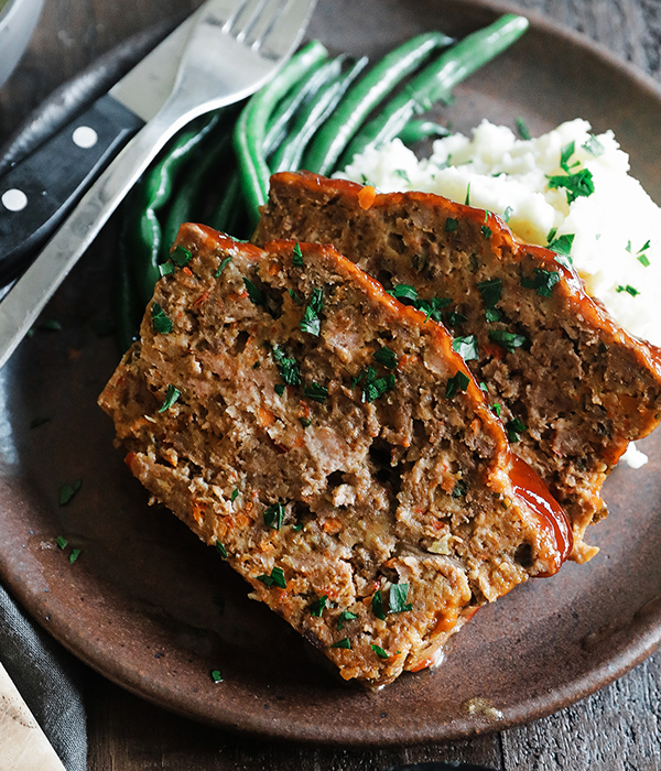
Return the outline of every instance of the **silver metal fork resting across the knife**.
[[[207,0],[171,95],[82,198],[0,303],[2,367],[159,150],[210,110],[250,96],[291,56],[316,0]]]

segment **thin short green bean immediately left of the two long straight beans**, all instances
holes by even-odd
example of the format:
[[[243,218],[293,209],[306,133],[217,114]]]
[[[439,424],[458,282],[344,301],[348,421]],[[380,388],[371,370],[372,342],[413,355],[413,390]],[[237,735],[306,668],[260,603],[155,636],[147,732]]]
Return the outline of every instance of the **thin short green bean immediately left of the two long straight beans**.
[[[303,110],[290,130],[289,139],[273,155],[274,171],[293,171],[299,169],[305,148],[321,126],[325,123],[351,83],[367,65],[367,57],[355,62],[347,73],[342,73],[346,56],[338,56],[333,64],[337,77],[321,88],[315,99]]]

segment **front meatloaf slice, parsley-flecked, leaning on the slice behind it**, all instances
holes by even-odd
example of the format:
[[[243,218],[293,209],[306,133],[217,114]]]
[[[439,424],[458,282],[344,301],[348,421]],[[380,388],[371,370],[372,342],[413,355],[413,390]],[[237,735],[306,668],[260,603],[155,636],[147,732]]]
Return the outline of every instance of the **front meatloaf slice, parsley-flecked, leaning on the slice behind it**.
[[[446,330],[330,247],[183,226],[100,404],[131,471],[346,680],[429,666],[570,549]]]

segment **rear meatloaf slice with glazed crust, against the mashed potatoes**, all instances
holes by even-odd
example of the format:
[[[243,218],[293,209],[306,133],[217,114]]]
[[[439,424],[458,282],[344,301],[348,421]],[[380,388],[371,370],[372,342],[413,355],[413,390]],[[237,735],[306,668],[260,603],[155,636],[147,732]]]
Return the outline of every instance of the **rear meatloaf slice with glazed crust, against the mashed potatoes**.
[[[629,442],[659,423],[660,351],[587,296],[568,261],[520,243],[498,217],[441,196],[375,195],[350,182],[281,173],[254,240],[275,234],[332,243],[404,302],[443,318],[512,449],[567,512],[573,558],[589,558],[597,550],[583,536],[606,514],[607,474]]]

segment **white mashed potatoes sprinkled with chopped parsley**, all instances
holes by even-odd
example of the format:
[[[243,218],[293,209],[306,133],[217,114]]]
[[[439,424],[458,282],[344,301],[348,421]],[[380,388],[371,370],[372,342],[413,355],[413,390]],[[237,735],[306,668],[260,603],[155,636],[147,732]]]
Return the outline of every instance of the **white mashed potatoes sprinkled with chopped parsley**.
[[[484,121],[472,139],[437,140],[430,159],[394,140],[357,155],[339,176],[382,192],[468,199],[503,216],[529,243],[555,241],[559,251],[571,243],[588,294],[628,332],[661,346],[661,209],[628,171],[613,132],[594,137],[585,120],[530,140]]]

